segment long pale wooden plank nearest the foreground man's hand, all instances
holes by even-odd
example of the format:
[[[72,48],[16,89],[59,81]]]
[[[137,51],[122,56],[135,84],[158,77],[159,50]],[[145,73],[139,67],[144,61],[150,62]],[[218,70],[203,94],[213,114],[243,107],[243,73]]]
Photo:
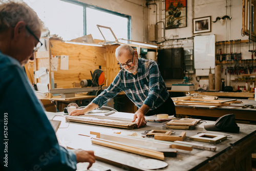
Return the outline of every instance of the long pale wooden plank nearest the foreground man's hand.
[[[136,146],[130,146],[130,145],[123,145],[120,143],[115,143],[113,141],[108,141],[108,140],[102,140],[99,138],[92,138],[92,143],[106,146],[106,147],[111,147],[115,149],[119,149],[121,151],[129,152],[129,153],[134,153],[158,160],[164,160],[164,154],[162,152],[157,152],[151,149],[146,149],[146,148],[141,148],[141,147],[136,147]]]

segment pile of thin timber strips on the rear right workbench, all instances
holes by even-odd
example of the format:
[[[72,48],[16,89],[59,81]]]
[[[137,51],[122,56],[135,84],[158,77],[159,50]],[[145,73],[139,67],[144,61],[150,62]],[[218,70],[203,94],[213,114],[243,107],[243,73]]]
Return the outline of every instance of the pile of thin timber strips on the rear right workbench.
[[[202,99],[202,98],[193,98],[191,96],[177,97],[174,99],[176,105],[207,105],[207,106],[244,106],[242,104],[233,104],[233,103],[242,103],[237,99],[230,100],[215,100],[215,99]]]

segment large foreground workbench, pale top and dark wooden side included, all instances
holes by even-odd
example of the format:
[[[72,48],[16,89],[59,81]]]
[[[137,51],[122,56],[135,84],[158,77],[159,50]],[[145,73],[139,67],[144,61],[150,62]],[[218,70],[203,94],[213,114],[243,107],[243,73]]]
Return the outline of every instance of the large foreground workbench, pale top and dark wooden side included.
[[[63,112],[60,113],[51,113],[47,112],[49,119],[52,119],[55,115],[63,116]],[[117,112],[112,114],[112,117],[125,117],[133,118],[134,114],[130,113],[120,113]],[[164,129],[163,123],[148,122],[146,126],[140,127],[135,130],[124,130],[124,129],[115,129],[113,127],[83,124],[70,122],[67,123],[64,117],[55,117],[54,120],[61,120],[60,127],[67,127],[65,129],[58,129],[56,135],[60,144],[68,146],[71,148],[82,148],[84,150],[93,150],[95,155],[101,158],[108,160],[108,163],[96,161],[93,164],[92,170],[143,170],[139,167],[138,163],[144,159],[149,159],[144,156],[127,153],[119,151],[117,149],[104,147],[100,145],[95,145],[91,143],[90,137],[80,136],[78,134],[90,135],[90,131],[100,132],[100,133],[137,133],[140,135],[146,130],[166,130]],[[66,116],[66,115],[65,115]],[[212,124],[214,121],[207,121],[207,124]],[[206,151],[203,149],[193,148],[193,151],[184,151],[182,149],[177,149],[177,157],[165,157],[164,161],[168,163],[168,166],[158,170],[234,170],[233,167],[236,167],[237,170],[251,170],[251,153],[255,148],[255,133],[256,125],[248,124],[238,124],[240,126],[240,133],[224,133],[224,132],[211,132],[206,131],[203,128],[203,125],[206,123],[201,123],[196,127],[195,130],[185,130],[186,136],[190,137],[197,135],[197,133],[209,133],[209,134],[218,134],[218,135],[230,135],[232,138],[227,138],[226,140],[217,143],[211,144],[206,142],[197,142],[185,139],[187,142],[201,143],[207,145],[217,146],[215,152]],[[174,130],[176,131],[175,135],[180,135],[184,130]],[[116,134],[118,135],[118,134]],[[152,140],[154,138],[144,138],[147,140]],[[167,141],[162,141],[166,142]],[[148,144],[145,144],[145,146]],[[115,164],[119,163],[121,168],[111,165],[113,161]],[[79,168],[84,168],[87,166],[87,163],[79,163]],[[91,170],[90,169],[90,170]],[[81,169],[82,170],[82,169]]]

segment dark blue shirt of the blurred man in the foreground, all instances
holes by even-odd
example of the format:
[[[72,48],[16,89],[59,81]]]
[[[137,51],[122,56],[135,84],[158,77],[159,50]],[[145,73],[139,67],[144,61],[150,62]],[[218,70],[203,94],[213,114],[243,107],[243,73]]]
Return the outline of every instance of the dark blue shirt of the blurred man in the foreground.
[[[75,154],[59,146],[19,62],[1,51],[0,132],[5,170],[76,170]]]

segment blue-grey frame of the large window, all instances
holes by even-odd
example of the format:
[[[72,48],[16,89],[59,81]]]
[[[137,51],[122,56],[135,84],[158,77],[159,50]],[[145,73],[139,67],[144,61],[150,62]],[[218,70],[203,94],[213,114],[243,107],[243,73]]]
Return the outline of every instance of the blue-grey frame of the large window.
[[[75,0],[60,0],[60,1],[63,1],[63,2],[66,2],[66,3],[75,4],[75,5],[79,5],[79,6],[83,7],[83,35],[87,35],[87,16],[86,16],[86,10],[87,10],[87,8],[91,8],[91,9],[95,9],[95,10],[99,10],[99,11],[102,11],[102,12],[107,12],[107,13],[110,13],[110,14],[113,14],[113,15],[117,15],[117,16],[121,16],[121,17],[127,18],[128,19],[128,23],[127,23],[127,37],[128,37],[128,39],[131,39],[132,29],[131,29],[131,16],[130,15],[121,14],[121,13],[118,13],[118,12],[114,12],[114,11],[107,10],[107,9],[104,9],[104,8],[96,7],[96,6],[93,6],[93,5],[86,4],[86,3],[81,3],[81,2],[78,2],[78,1],[75,1]]]

